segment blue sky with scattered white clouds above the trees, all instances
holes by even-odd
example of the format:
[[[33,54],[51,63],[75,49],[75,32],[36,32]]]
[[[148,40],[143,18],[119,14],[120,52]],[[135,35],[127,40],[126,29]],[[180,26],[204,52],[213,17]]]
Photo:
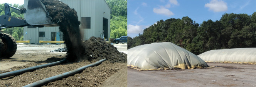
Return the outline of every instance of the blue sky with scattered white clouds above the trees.
[[[220,20],[224,13],[256,11],[256,0],[128,0],[128,36],[135,37],[159,20],[189,16],[196,23]]]

